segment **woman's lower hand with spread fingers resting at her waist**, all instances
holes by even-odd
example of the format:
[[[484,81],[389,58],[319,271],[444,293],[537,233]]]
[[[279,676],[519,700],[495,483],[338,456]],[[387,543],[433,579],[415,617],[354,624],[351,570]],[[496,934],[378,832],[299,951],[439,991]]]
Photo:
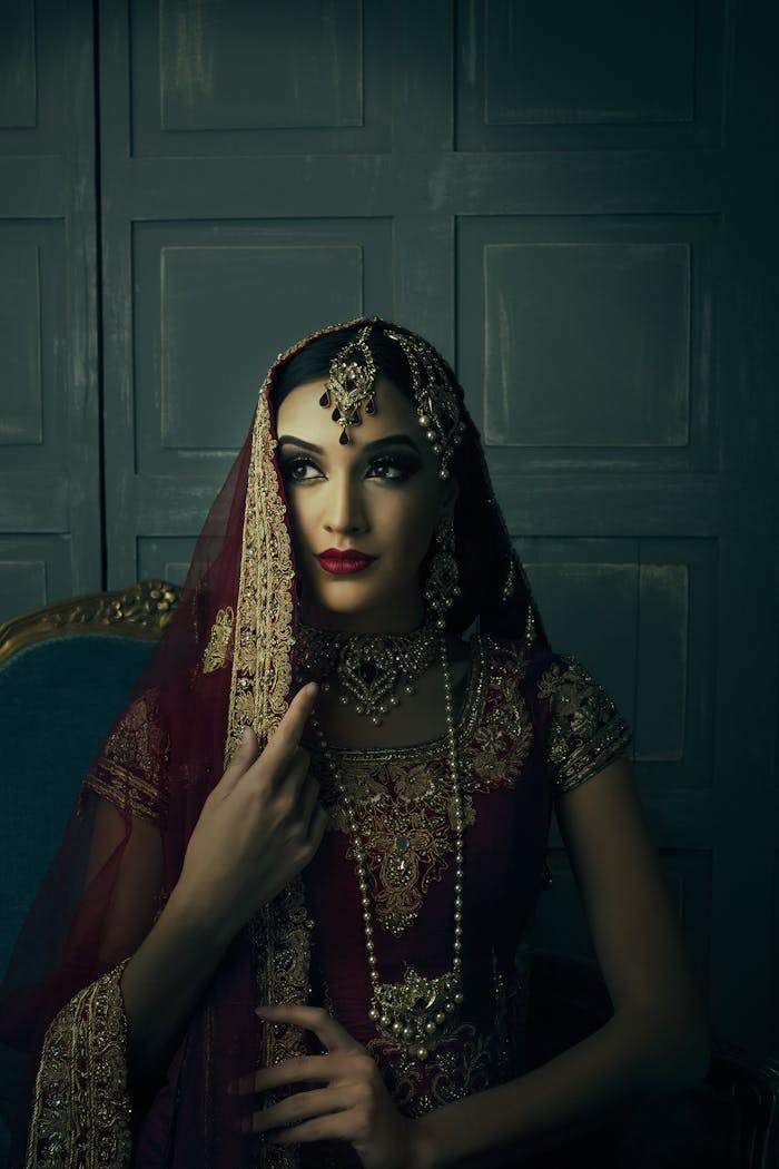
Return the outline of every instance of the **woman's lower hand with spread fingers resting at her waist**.
[[[265,1133],[276,1144],[346,1141],[364,1169],[422,1169],[425,1164],[415,1122],[390,1099],[376,1061],[335,1019],[318,1007],[262,1007],[269,1023],[291,1023],[313,1031],[325,1056],[298,1056],[244,1077],[243,1095],[290,1085],[319,1085],[294,1092],[252,1112],[244,1132]]]

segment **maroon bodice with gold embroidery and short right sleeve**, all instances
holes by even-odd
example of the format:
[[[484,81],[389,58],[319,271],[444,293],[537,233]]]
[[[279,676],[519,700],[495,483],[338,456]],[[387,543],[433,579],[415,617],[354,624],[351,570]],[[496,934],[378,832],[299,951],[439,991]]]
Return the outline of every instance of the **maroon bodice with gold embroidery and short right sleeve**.
[[[355,864],[325,761],[312,767],[331,830],[305,873],[314,921],[314,992],[373,1052],[410,1115],[510,1078],[522,1067],[522,968],[556,798],[621,753],[630,731],[575,659],[477,637],[457,725],[465,811],[464,969],[454,1031],[423,1063],[381,1038]],[[357,811],[382,981],[406,967],[451,967],[453,810],[446,740],[335,750]]]

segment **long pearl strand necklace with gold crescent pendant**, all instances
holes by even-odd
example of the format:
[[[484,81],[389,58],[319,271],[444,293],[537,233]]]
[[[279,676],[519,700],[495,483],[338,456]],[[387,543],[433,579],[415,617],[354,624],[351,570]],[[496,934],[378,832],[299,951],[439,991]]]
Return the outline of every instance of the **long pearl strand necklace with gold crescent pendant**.
[[[346,812],[352,848],[357,870],[357,886],[362,902],[362,924],[366,934],[366,953],[370,975],[371,1007],[368,1012],[376,1030],[385,1039],[410,1052],[417,1059],[427,1058],[431,1047],[448,1038],[457,1023],[458,1008],[462,1002],[462,874],[465,862],[462,793],[457,761],[454,735],[454,712],[452,708],[452,679],[448,670],[446,641],[440,635],[440,660],[444,672],[444,700],[446,704],[446,738],[450,773],[452,777],[452,818],[454,821],[454,943],[452,969],[437,977],[427,978],[406,966],[403,982],[382,982],[378,977],[378,961],[374,942],[374,916],[368,892],[368,869],[362,846],[362,832],[357,822],[354,801],[349,796],[325,733],[315,714],[311,721],[319,740],[321,753],[331,769]]]

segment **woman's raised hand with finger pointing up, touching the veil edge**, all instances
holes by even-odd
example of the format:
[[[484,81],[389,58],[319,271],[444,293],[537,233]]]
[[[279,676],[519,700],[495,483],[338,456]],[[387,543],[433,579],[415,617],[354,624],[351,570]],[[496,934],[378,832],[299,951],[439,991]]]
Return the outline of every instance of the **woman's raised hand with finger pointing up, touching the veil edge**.
[[[304,686],[265,749],[248,728],[189,839],[171,900],[225,941],[308,864],[327,815],[300,736],[318,687]]]

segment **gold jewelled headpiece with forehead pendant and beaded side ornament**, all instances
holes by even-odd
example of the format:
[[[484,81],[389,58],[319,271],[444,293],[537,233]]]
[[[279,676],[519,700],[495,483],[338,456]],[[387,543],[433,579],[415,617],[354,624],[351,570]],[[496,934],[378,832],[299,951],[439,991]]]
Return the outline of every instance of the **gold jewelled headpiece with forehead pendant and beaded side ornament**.
[[[331,362],[329,378],[325,382],[325,393],[319,400],[319,404],[327,408],[334,403],[333,422],[338,422],[341,427],[339,442],[343,445],[349,442],[347,427],[359,426],[362,422],[360,411],[363,406],[366,414],[376,413],[374,386],[377,369],[368,346],[370,327],[366,325],[361,328],[357,336],[335,354]],[[459,445],[465,430],[451,378],[436,351],[420,337],[396,333],[392,330],[387,330],[385,336],[401,346],[409,362],[417,417],[434,452],[440,456],[439,473],[446,479],[454,448]]]

